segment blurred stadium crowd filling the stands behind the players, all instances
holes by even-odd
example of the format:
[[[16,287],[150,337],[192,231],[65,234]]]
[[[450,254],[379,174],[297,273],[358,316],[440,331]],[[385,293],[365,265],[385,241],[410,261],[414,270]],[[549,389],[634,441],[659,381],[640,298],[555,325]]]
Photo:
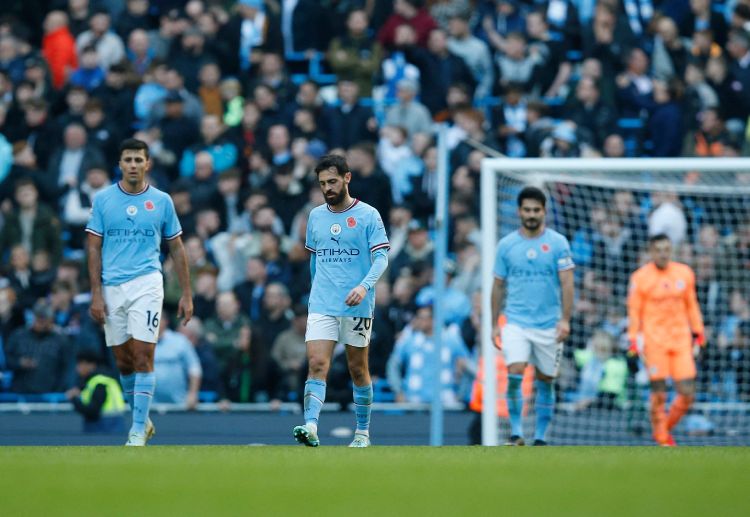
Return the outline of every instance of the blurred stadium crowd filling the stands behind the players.
[[[428,401],[434,130],[447,123],[450,354],[439,374],[446,401],[465,402],[488,148],[738,156],[749,116],[747,0],[5,0],[0,385],[63,392],[83,350],[112,366],[88,316],[83,228],[92,198],[118,180],[123,138],[150,146],[150,182],[174,200],[195,293],[194,320],[171,318],[170,330],[180,291],[167,260],[157,402],[193,406],[198,390],[299,400],[305,225],[323,203],[312,166],[331,152],[346,155],[352,195],[383,214],[391,242],[370,351],[376,400]],[[563,206],[576,194],[552,192]],[[622,398],[625,381],[602,378],[623,360],[627,277],[646,235],[667,231],[696,269],[709,326],[701,390],[749,396],[747,206],[725,218],[675,194],[582,195],[596,202],[558,228],[579,266],[564,391],[585,404]],[[350,402],[342,350],[328,389]]]

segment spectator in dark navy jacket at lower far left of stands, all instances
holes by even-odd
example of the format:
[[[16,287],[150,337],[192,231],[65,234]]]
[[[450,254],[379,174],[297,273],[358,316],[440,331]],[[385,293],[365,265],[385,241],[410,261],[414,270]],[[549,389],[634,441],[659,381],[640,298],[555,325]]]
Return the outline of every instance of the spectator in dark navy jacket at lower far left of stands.
[[[39,300],[34,304],[31,327],[13,332],[4,349],[8,367],[13,371],[12,391],[50,393],[72,386],[70,343],[55,330],[48,302]]]

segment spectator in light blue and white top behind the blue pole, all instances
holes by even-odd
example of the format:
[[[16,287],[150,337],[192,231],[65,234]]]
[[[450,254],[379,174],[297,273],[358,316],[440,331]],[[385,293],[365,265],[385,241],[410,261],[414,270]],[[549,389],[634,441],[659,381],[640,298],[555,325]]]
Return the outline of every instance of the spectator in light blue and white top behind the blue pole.
[[[388,384],[397,402],[431,402],[433,382],[440,378],[440,396],[444,404],[456,404],[459,379],[466,368],[469,352],[457,326],[443,331],[442,346],[448,353],[441,354],[436,369],[433,342],[432,307],[420,307],[410,328],[396,342],[388,361]]]

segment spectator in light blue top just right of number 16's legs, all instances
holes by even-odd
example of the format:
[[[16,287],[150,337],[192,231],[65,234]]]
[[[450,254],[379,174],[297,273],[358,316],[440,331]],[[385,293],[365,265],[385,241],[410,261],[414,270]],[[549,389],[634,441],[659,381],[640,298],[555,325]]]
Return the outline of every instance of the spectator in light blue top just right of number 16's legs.
[[[198,407],[198,391],[203,377],[200,359],[188,338],[169,328],[166,314],[162,314],[159,325],[154,373],[159,378],[154,402],[178,404],[187,409]]]

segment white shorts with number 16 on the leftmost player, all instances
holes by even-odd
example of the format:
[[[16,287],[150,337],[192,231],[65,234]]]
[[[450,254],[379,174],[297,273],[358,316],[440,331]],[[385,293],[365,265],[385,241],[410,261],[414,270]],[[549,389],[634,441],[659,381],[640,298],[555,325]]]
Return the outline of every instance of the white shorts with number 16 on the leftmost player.
[[[146,343],[159,338],[159,321],[164,302],[164,282],[155,271],[120,285],[103,286],[107,317],[104,337],[107,346],[119,346],[131,337]]]

